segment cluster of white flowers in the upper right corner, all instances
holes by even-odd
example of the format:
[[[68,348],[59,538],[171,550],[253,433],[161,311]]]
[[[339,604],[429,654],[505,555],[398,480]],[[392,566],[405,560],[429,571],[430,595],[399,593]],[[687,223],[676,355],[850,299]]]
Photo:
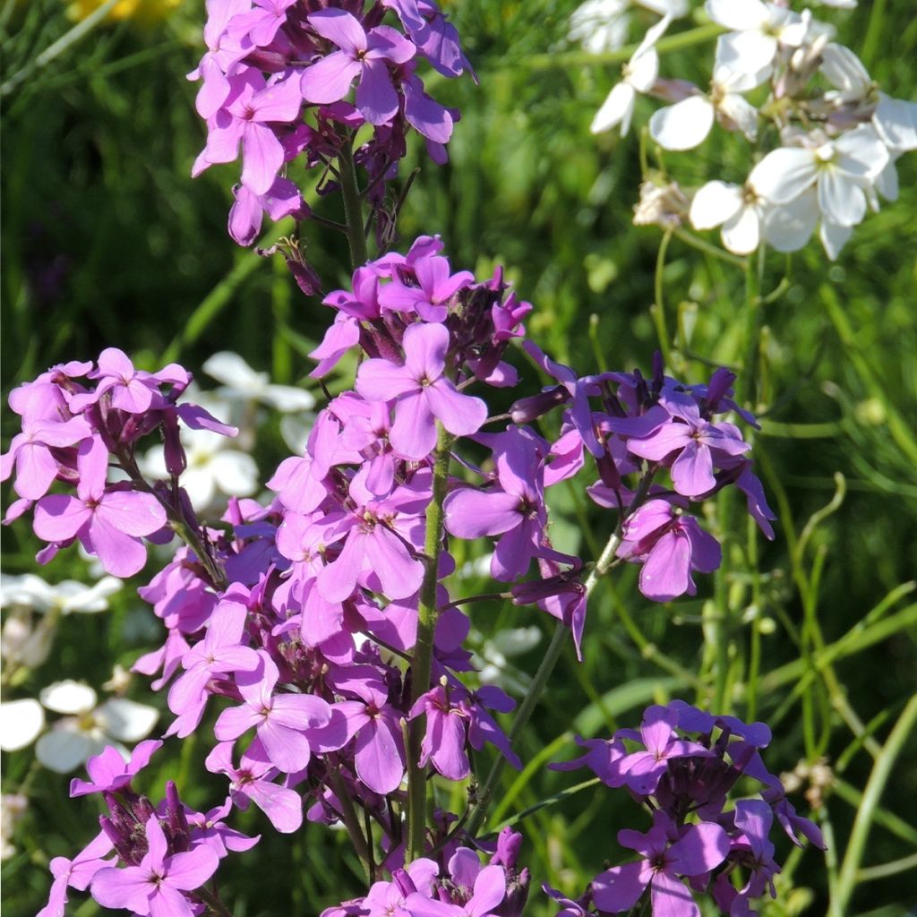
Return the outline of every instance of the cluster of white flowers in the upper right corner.
[[[818,226],[836,258],[879,197],[897,199],[895,160],[917,149],[917,104],[880,92],[856,54],[834,42],[834,28],[809,10],[765,0],[707,0],[704,10],[726,30],[709,88],[659,76],[655,46],[669,11],[624,66],[593,133],[615,126],[626,133],[637,94],[649,94],[672,103],[649,121],[663,149],[694,149],[714,125],[744,135],[745,181],[705,183],[668,223],[719,226],[725,248],[739,255],[762,241],[801,249]]]

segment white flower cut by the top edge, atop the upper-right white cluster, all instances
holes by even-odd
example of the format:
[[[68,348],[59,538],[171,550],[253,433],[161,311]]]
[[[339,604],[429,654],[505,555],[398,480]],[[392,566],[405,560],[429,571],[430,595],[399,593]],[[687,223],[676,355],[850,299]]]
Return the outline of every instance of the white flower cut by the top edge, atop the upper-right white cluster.
[[[721,37],[717,57],[722,53],[725,64],[744,72],[769,72],[779,46],[798,48],[809,30],[809,17],[762,0],[707,0],[704,9],[733,30]]]

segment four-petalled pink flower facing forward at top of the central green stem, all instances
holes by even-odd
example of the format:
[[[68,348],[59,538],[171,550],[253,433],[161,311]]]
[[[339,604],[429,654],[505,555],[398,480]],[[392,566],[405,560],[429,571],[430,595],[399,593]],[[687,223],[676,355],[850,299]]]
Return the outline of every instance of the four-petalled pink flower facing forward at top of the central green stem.
[[[402,458],[426,458],[436,447],[436,419],[454,436],[470,436],[487,419],[487,405],[456,391],[446,375],[449,333],[443,325],[412,325],[404,332],[404,365],[368,359],[357,391],[371,402],[398,398],[392,448]]]

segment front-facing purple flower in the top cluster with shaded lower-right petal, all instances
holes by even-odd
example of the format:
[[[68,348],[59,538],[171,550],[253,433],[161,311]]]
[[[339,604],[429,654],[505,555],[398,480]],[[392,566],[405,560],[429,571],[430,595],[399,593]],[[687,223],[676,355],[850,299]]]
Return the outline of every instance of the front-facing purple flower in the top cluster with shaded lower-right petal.
[[[367,32],[357,17],[342,9],[323,9],[308,17],[312,28],[340,50],[316,61],[303,73],[301,89],[306,102],[338,102],[359,77],[357,107],[372,125],[387,124],[398,112],[398,94],[386,61],[410,61],[416,49],[390,26]]]

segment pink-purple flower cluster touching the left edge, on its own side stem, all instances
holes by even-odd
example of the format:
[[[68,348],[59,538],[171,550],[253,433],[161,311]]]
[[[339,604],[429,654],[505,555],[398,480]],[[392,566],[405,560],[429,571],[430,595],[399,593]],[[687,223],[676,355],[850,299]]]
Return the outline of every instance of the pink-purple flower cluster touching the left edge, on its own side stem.
[[[136,370],[122,351],[107,348],[95,366],[55,366],[10,394],[22,432],[0,457],[0,480],[15,469],[19,496],[6,522],[34,507],[35,534],[49,543],[40,562],[79,541],[106,572],[133,576],[147,559],[143,536],[169,541],[168,524],[199,527],[177,483],[187,468],[179,422],[222,436],[236,431],[199,405],[178,403],[190,383],[190,373],[177,364],[155,373]],[[136,450],[156,430],[171,484],[154,487],[138,470]],[[121,480],[109,481],[110,470]],[[49,493],[55,481],[76,494]]]

